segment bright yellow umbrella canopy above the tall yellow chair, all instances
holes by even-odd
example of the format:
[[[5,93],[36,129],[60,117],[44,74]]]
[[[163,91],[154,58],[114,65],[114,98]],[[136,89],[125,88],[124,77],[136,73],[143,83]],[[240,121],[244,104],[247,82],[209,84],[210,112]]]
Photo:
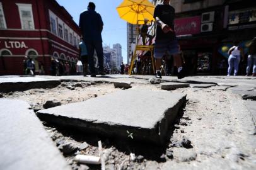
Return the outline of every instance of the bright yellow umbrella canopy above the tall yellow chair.
[[[154,5],[148,0],[124,0],[118,7],[120,18],[131,24],[144,24],[144,19],[153,21]]]

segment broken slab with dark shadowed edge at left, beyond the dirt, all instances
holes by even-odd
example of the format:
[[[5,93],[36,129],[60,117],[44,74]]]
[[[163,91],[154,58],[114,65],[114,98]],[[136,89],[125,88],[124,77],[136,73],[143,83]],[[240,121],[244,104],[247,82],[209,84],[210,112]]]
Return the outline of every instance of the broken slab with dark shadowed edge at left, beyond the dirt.
[[[55,88],[60,80],[38,77],[0,77],[0,92],[25,91],[28,89]]]

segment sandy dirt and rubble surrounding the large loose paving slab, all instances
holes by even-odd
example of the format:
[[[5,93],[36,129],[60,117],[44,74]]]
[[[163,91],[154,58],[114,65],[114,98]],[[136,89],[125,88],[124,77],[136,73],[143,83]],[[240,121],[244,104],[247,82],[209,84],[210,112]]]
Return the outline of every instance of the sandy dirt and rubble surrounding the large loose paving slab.
[[[62,82],[54,89],[30,89],[3,94],[3,97],[25,100],[37,111],[49,99],[66,105],[123,90],[114,88],[113,84],[80,86],[76,83]],[[71,90],[70,86],[76,87]],[[132,84],[132,89],[161,91],[159,85],[151,84]],[[98,156],[99,140],[105,150],[107,169],[256,169],[255,124],[243,100],[226,91],[209,88],[175,91],[186,93],[188,100],[175,125],[170,127],[170,142],[162,147],[42,123],[57,147],[67,142],[77,146],[71,154],[64,154],[72,169],[100,169],[100,166],[73,162],[76,154]],[[79,149],[84,142],[88,147]],[[134,160],[131,154],[135,154]]]

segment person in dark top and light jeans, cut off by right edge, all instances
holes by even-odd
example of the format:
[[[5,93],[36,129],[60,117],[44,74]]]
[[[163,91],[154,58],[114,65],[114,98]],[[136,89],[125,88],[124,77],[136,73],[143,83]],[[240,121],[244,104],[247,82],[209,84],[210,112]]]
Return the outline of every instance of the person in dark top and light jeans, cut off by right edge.
[[[250,76],[250,70],[252,68],[252,76],[256,76],[256,37],[253,38],[248,48],[248,60],[247,60],[247,76]]]

